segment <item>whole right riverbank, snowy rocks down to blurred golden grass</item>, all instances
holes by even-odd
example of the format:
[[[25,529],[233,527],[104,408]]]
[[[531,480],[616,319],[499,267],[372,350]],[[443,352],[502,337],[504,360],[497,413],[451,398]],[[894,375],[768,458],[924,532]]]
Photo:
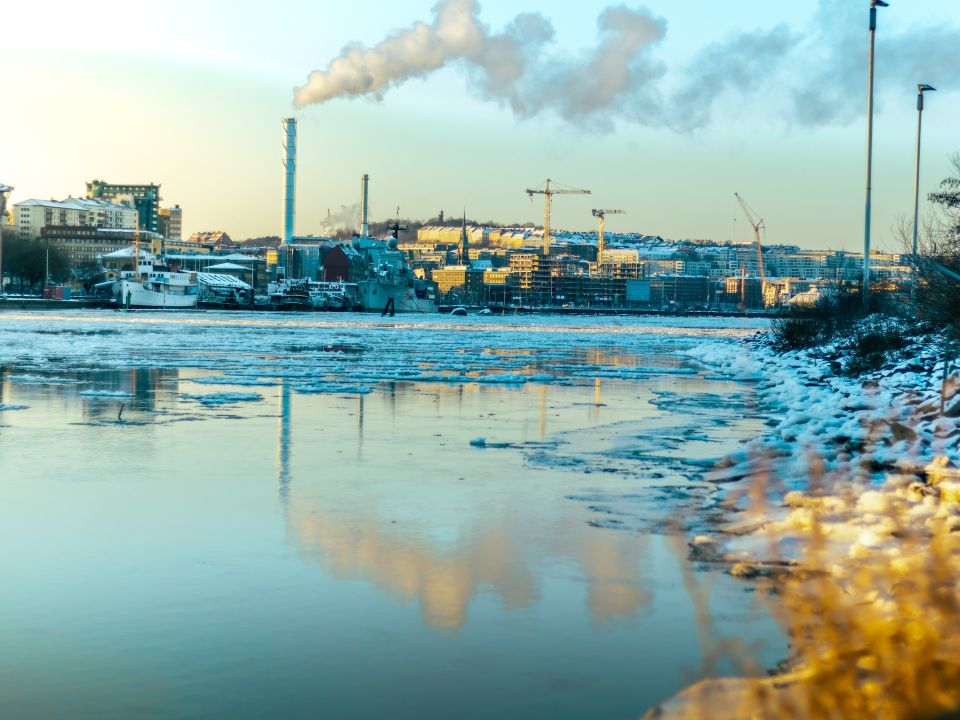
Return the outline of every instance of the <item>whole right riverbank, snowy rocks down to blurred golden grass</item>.
[[[873,336],[900,341],[865,358]],[[875,317],[809,350],[777,352],[763,334],[688,351],[754,379],[770,412],[770,431],[713,474],[737,481],[724,485],[730,512],[690,556],[766,578],[791,654],[771,678],[705,681],[647,717],[956,707],[960,400],[944,350],[938,334]]]

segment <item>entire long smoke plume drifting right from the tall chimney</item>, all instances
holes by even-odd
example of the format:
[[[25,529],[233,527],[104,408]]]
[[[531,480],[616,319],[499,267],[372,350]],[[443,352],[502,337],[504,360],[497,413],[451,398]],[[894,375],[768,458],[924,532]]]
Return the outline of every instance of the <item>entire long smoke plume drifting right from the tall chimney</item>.
[[[859,4],[820,0],[802,42],[800,34],[778,25],[711,44],[688,67],[669,74],[666,80],[679,88],[673,93],[660,92],[658,81],[668,73],[652,56],[666,21],[645,9],[607,8],[598,19],[597,46],[562,57],[545,52],[554,30],[542,15],[518,15],[493,33],[479,11],[477,0],[442,0],[432,23],[415,23],[374,47],[347,46],[297,89],[297,104],[381,98],[406,80],[461,63],[484,96],[519,117],[553,111],[600,130],[620,119],[692,130],[709,122],[722,96],[760,90],[771,104],[792,106],[790,116],[801,124],[846,122],[863,109],[866,15]],[[954,27],[889,29],[877,42],[878,94],[884,84],[936,84],[960,65],[960,30]]]

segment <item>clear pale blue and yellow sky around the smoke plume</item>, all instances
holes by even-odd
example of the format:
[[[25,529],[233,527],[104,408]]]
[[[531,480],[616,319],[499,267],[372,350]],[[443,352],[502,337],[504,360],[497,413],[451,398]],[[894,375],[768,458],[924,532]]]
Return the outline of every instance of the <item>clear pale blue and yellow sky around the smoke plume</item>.
[[[0,181],[16,186],[16,201],[81,194],[94,177],[152,180],[162,183],[167,202],[183,206],[187,231],[277,234],[280,119],[294,113],[294,87],[350,42],[372,45],[415,20],[430,21],[432,5],[14,0],[0,10]],[[539,12],[555,28],[549,54],[561,63],[596,45],[597,17],[608,5],[486,0],[480,16],[499,31],[519,12]],[[552,112],[518,120],[481,99],[456,64],[388,92],[382,102],[338,99],[297,110],[297,232],[319,232],[328,209],[356,203],[363,172],[371,175],[376,218],[398,205],[412,217],[440,209],[458,214],[466,206],[471,216],[504,222],[542,219],[542,205],[531,204],[523,189],[549,176],[594,192],[556,201],[554,222],[564,227],[592,228],[590,208],[603,206],[628,212],[611,218],[611,230],[725,240],[739,191],[764,215],[768,242],[855,249],[863,232],[867,5],[647,3],[667,23],[664,41],[652,50],[666,68],[658,92],[683,87],[691,67],[709,77],[710,63],[697,63],[698,54],[738,33],[784,23],[784,35],[796,42],[779,67],[754,69],[750,92],[721,93],[709,121],[692,131],[621,119],[611,132],[596,133]],[[851,8],[862,11],[854,16],[859,24],[816,19]],[[924,113],[924,191],[960,150],[960,93],[951,90],[960,44],[949,42],[960,37],[958,26],[960,9],[948,0],[893,0],[881,11],[874,175],[881,249],[895,246],[890,228],[912,208],[912,83],[941,90]],[[917,38],[915,57],[903,49],[907,34]],[[831,45],[852,46],[847,55],[863,61],[855,55],[847,67],[827,54]],[[811,86],[817,97],[820,88],[849,86],[839,95],[848,98],[849,119],[798,120],[793,85],[818,73],[826,74]],[[908,82],[911,73],[924,76]],[[692,107],[705,106],[702,85],[694,86]],[[737,237],[748,238],[739,218]]]

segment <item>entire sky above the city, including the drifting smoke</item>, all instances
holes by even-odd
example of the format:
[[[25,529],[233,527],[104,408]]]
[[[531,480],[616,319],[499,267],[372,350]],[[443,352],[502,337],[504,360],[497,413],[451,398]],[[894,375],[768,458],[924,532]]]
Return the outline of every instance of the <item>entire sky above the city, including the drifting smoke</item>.
[[[0,8],[0,182],[12,202],[158,182],[185,233],[275,235],[280,123],[295,116],[298,234],[352,223],[362,173],[373,219],[537,223],[524,190],[549,177],[592,191],[556,198],[554,227],[593,229],[603,207],[626,212],[613,232],[746,241],[736,191],[768,243],[856,250],[868,5],[14,0]],[[922,193],[960,151],[960,7],[891,0],[878,26],[873,238],[896,251],[917,82],[938,88]]]

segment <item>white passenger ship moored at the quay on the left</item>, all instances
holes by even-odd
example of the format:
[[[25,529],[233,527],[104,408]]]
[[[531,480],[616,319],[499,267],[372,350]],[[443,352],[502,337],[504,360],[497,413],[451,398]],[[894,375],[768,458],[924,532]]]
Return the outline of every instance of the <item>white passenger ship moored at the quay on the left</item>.
[[[103,260],[129,258],[131,265],[137,255],[136,269],[122,270],[118,277],[108,283],[100,283],[97,289],[106,289],[125,308],[193,308],[200,297],[197,274],[172,270],[163,261],[143,250],[127,248],[109,255]]]

